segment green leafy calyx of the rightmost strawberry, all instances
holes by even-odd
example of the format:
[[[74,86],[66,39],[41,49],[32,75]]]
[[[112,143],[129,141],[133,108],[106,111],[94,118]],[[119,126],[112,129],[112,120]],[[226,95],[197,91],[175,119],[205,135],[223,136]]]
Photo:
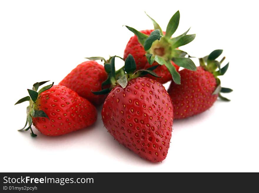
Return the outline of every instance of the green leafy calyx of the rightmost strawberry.
[[[217,88],[212,94],[218,94],[219,98],[223,101],[230,101],[228,98],[223,97],[221,93],[231,93],[233,90],[231,88],[221,87],[220,79],[218,78],[218,76],[222,76],[226,73],[229,66],[228,62],[224,67],[221,67],[221,64],[225,60],[225,56],[220,61],[216,60],[222,52],[223,50],[214,50],[208,56],[199,58],[199,62],[200,66],[204,70],[212,73],[216,79]]]

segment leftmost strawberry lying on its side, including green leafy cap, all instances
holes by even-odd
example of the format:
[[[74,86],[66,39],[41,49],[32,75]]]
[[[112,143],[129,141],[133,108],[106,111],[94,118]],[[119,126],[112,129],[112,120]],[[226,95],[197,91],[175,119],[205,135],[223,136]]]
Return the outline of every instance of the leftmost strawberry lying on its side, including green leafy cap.
[[[33,124],[42,134],[48,136],[64,135],[92,125],[97,119],[97,110],[87,99],[80,97],[73,90],[62,85],[51,85],[41,88],[46,83],[37,82],[33,89],[28,89],[29,96],[18,100],[16,104],[29,101],[27,119],[24,128],[31,130]]]

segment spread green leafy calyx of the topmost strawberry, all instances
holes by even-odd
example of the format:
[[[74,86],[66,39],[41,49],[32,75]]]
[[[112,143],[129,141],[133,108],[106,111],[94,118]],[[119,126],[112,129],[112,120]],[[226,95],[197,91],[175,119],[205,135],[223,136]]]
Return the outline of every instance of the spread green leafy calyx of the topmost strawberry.
[[[177,11],[172,16],[169,23],[167,24],[165,36],[157,22],[149,15],[147,16],[151,19],[155,29],[152,31],[152,33],[150,33],[150,36],[147,36],[146,34],[141,33],[132,27],[126,27],[137,36],[139,43],[144,47],[147,61],[150,63],[150,65],[152,65],[154,61],[160,65],[165,65],[170,71],[174,82],[180,84],[180,74],[171,64],[171,61],[173,61],[176,65],[191,71],[196,70],[196,66],[193,61],[187,57],[189,56],[187,52],[178,49],[178,47],[184,46],[194,40],[195,34],[187,35],[188,31],[190,30],[189,28],[180,36],[174,38],[171,37],[179,25],[179,11]]]

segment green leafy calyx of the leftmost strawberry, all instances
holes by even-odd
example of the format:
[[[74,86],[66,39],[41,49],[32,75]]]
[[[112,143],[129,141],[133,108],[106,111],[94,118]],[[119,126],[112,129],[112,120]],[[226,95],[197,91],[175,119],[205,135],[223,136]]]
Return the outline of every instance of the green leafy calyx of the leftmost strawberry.
[[[17,104],[20,104],[20,103],[23,103],[25,101],[29,101],[29,106],[26,108],[26,122],[25,122],[25,125],[23,128],[19,129],[18,131],[22,131],[22,130],[31,130],[31,136],[32,137],[36,137],[37,135],[34,134],[34,132],[32,131],[31,129],[31,125],[32,125],[32,117],[46,117],[49,119],[49,117],[46,115],[46,113],[43,111],[43,110],[37,110],[35,108],[35,104],[36,104],[36,100],[38,99],[38,96],[40,93],[50,89],[53,85],[54,85],[54,82],[50,85],[47,85],[47,86],[44,86],[42,87],[38,92],[37,90],[39,89],[39,86],[45,84],[49,82],[48,81],[43,81],[43,82],[36,82],[33,84],[33,87],[32,89],[27,89],[28,90],[28,93],[29,93],[29,96],[26,96],[24,98],[21,98],[20,100],[18,100],[14,105],[17,105]]]

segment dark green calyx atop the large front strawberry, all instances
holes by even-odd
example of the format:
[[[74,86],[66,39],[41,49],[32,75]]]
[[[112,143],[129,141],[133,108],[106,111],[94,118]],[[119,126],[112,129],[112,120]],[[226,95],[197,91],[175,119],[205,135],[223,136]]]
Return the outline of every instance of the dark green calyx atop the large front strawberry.
[[[111,85],[110,88],[106,88],[101,91],[92,92],[92,93],[96,95],[107,94],[112,90],[112,88],[114,88],[117,85],[120,85],[122,88],[126,88],[130,80],[147,74],[151,74],[155,77],[160,77],[155,72],[153,72],[153,70],[157,68],[158,65],[152,66],[146,70],[136,71],[136,68],[137,68],[136,62],[131,54],[129,54],[128,57],[126,58],[124,66],[120,68],[118,71],[115,71],[115,63],[114,63],[115,57],[116,56],[112,57],[110,64],[105,64],[105,65],[109,65],[107,66],[107,70],[109,69],[108,79],[109,79],[109,84]],[[104,82],[106,82],[107,80],[105,80]],[[102,84],[104,84],[104,82]]]

